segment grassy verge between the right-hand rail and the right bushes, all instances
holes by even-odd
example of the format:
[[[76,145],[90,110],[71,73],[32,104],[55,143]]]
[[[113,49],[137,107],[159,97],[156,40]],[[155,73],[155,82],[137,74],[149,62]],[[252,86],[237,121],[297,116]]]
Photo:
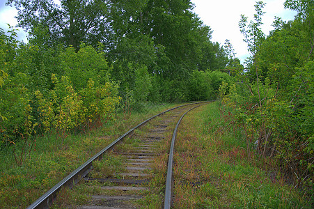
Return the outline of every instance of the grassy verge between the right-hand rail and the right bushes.
[[[187,114],[175,142],[174,208],[311,208],[311,200],[285,183],[253,153],[245,139],[224,127],[219,102]]]

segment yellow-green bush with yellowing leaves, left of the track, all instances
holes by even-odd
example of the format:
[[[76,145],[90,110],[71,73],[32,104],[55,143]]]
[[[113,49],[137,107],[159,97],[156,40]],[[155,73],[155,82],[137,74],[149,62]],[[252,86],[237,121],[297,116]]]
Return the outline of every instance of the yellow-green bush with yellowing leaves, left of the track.
[[[95,85],[90,79],[81,91],[74,91],[68,77],[58,81],[52,75],[54,88],[44,98],[39,91],[35,92],[39,120],[47,132],[54,128],[64,139],[66,134],[85,124],[100,125],[104,119],[113,118],[120,98],[117,86],[107,82]]]

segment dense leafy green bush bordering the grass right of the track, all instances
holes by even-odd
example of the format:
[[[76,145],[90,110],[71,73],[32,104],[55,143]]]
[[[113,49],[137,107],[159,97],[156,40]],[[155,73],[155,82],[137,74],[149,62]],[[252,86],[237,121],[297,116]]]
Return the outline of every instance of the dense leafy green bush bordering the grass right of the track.
[[[301,185],[313,178],[313,72],[314,62],[295,68],[286,89],[265,78],[258,84],[238,83],[223,101],[233,107],[250,146],[263,157],[276,157],[278,167]],[[259,96],[260,95],[260,100]]]

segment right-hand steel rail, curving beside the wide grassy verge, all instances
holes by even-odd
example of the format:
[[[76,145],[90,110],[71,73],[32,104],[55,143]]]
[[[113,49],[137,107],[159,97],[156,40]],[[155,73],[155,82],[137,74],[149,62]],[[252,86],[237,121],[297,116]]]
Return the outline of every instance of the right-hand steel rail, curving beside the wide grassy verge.
[[[200,107],[200,105],[196,107]],[[165,189],[165,195],[164,195],[164,209],[170,209],[171,208],[171,196],[172,196],[172,164],[173,164],[173,150],[175,146],[175,137],[177,137],[178,127],[183,119],[183,117],[192,109],[195,109],[196,107],[192,107],[188,111],[185,112],[179,119],[177,125],[175,126],[175,130],[173,131],[172,139],[171,139],[171,146],[169,151],[169,157],[168,157],[168,170],[167,170],[167,178],[166,178],[166,189]]]

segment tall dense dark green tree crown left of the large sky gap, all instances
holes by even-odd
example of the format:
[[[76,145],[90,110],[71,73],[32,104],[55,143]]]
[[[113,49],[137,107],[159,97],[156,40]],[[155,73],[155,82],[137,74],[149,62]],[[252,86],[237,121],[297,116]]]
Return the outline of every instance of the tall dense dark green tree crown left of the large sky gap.
[[[136,1],[136,9],[129,8],[130,4],[114,1],[112,5],[112,26],[119,36],[109,53],[114,78],[120,77],[116,76],[119,71],[125,72],[120,67],[127,68],[127,63],[146,65],[154,75],[180,81],[197,68],[226,67],[226,54],[217,42],[210,42],[212,31],[191,12],[190,1]]]

